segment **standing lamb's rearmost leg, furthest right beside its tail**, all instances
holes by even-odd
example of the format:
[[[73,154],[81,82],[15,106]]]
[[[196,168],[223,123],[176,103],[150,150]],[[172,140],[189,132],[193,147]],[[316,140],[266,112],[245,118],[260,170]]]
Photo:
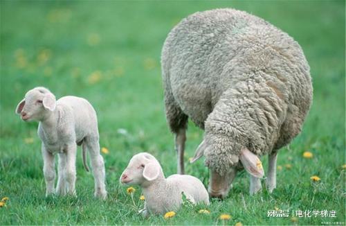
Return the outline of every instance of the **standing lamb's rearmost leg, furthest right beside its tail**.
[[[89,151],[89,156],[91,158],[91,166],[93,166],[93,177],[95,180],[95,197],[107,198],[104,171],[104,161],[102,155],[100,155],[100,145],[98,143],[98,138],[86,138],[86,147]]]

